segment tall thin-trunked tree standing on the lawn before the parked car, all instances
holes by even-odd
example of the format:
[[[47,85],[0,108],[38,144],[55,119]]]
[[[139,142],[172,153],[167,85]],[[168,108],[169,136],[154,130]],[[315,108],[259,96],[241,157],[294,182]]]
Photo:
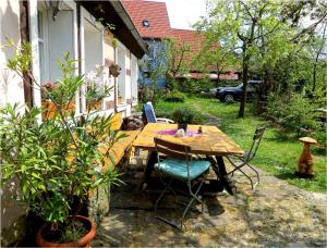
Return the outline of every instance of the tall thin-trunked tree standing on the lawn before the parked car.
[[[203,20],[198,27],[217,33],[220,40],[225,40],[240,53],[243,92],[238,116],[244,117],[251,61],[258,52],[261,37],[268,36],[277,29],[278,25],[271,26],[270,23],[272,20],[276,20],[276,24],[279,23],[277,20],[279,4],[272,0],[219,0],[213,5],[209,17]]]

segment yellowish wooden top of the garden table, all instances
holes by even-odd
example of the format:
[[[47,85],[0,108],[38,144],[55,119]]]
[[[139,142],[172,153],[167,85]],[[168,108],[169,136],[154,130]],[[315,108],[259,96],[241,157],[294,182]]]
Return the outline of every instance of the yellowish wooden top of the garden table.
[[[134,140],[133,147],[145,150],[155,150],[154,137],[158,137],[173,142],[189,145],[192,152],[197,154],[227,156],[244,153],[234,141],[216,126],[187,125],[187,131],[196,133],[199,126],[202,126],[203,129],[202,135],[174,137],[171,135],[158,134],[158,132],[173,128],[177,129],[177,124],[148,123]]]

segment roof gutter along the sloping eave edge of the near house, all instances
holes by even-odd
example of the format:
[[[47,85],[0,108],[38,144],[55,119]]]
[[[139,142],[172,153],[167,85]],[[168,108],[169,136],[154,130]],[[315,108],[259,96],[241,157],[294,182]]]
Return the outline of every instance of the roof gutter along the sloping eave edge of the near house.
[[[121,20],[124,22],[135,40],[137,41],[138,46],[142,48],[142,50],[147,53],[147,46],[144,42],[143,38],[138,34],[135,25],[133,24],[130,15],[128,14],[125,8],[123,7],[121,1],[110,1],[110,4],[116,10],[118,15],[121,17]]]

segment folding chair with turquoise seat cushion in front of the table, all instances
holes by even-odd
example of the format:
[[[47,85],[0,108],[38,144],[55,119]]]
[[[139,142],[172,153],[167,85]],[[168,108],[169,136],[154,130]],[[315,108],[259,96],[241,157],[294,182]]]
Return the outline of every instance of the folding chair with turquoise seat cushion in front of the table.
[[[156,201],[155,218],[182,230],[185,214],[187,213],[194,201],[197,201],[202,204],[203,212],[203,201],[201,200],[198,195],[205,178],[204,174],[209,170],[210,162],[205,160],[193,160],[191,154],[191,147],[189,146],[174,144],[159,138],[155,138],[155,144],[158,153],[158,163],[155,164],[155,170],[161,176],[165,176],[168,179],[168,184]],[[166,154],[168,156],[168,158],[161,161],[161,154]],[[191,197],[181,218],[180,226],[171,220],[157,215],[158,204],[166,193],[168,193],[169,190],[174,191],[171,187],[173,181],[185,183],[187,185],[187,196]],[[197,184],[192,185],[194,181],[196,181]]]

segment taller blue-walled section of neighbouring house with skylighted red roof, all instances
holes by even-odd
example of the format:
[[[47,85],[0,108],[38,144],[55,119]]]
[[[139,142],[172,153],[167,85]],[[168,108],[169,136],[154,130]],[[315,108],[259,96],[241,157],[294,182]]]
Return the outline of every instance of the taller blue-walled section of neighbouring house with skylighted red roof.
[[[140,76],[141,82],[148,85],[149,74],[158,66],[158,63],[167,64],[167,57],[162,57],[162,53],[166,53],[162,40],[171,37],[171,28],[166,3],[123,0],[123,5],[148,45],[148,53],[143,58]],[[166,75],[157,79],[157,86],[166,86]]]

